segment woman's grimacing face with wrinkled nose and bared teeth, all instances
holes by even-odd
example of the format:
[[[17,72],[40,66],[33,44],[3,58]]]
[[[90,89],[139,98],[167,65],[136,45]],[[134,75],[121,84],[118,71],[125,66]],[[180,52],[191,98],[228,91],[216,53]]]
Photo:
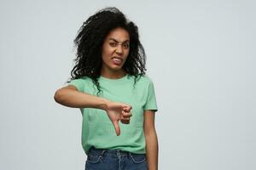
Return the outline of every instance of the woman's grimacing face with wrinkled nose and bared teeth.
[[[122,71],[129,50],[129,33],[120,27],[110,31],[102,45],[102,71]]]

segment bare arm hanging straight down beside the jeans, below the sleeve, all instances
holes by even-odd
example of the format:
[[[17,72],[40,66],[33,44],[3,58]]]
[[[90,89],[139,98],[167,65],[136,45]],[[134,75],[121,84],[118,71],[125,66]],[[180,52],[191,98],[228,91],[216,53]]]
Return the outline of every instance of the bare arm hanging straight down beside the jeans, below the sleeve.
[[[154,128],[154,111],[144,111],[144,133],[148,170],[158,169],[158,140]]]

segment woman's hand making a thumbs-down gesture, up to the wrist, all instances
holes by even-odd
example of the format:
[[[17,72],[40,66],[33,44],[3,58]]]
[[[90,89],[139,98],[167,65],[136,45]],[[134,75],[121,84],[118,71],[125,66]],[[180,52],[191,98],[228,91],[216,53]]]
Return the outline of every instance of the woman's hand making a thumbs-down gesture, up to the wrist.
[[[106,111],[110,121],[113,123],[113,127],[115,129],[116,135],[119,136],[120,135],[119,121],[125,124],[130,123],[131,105],[110,101],[107,104]]]

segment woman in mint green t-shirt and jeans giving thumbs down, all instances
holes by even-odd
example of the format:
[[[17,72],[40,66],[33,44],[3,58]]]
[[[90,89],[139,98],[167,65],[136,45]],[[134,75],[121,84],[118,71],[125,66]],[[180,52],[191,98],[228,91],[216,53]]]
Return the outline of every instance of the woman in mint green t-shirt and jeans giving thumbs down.
[[[118,8],[103,8],[74,42],[71,81],[55,92],[55,101],[82,112],[85,169],[156,170],[157,105],[137,26]]]

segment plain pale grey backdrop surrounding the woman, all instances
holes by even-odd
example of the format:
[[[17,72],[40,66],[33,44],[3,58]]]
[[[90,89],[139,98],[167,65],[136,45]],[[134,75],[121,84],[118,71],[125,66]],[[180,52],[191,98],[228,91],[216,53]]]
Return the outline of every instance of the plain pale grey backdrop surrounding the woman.
[[[82,116],[54,94],[79,27],[108,6],[137,24],[148,55],[160,170],[256,169],[255,4],[1,0],[0,169],[84,169]]]

